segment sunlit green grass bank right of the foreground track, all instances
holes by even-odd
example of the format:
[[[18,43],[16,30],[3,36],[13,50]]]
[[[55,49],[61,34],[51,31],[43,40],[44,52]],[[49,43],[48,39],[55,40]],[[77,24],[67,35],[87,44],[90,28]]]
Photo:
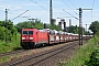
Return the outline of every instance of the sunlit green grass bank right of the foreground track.
[[[61,64],[59,66],[85,66],[85,61],[89,61],[91,53],[98,48],[98,40],[97,36],[90,38],[87,44],[77,50],[69,62]]]

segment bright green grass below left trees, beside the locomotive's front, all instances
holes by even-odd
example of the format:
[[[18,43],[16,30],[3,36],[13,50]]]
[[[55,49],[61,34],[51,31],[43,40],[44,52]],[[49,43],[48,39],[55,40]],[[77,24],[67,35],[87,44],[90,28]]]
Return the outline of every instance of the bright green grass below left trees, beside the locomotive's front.
[[[14,50],[21,48],[20,46],[20,35],[18,35],[18,38],[11,42],[6,43],[6,41],[0,41],[0,53],[11,52]]]

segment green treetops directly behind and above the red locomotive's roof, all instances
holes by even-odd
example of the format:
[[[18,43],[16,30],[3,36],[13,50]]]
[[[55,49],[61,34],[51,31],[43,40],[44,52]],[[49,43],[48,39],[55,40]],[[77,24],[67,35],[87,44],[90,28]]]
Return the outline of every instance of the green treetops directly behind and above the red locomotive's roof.
[[[29,29],[29,28],[35,28],[35,29],[44,29],[43,23],[41,20],[35,20],[35,21],[24,21],[24,22],[19,22],[16,25],[14,25],[18,30],[18,32],[21,32],[22,29]]]

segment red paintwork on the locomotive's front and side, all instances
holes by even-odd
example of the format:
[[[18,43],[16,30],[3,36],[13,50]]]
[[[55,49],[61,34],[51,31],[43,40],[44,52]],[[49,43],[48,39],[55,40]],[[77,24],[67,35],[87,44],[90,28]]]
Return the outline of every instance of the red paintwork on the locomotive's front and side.
[[[36,29],[22,29],[23,31],[33,31],[33,35],[21,35],[22,37],[25,37],[25,40],[21,40],[22,42],[34,42],[34,43],[48,43],[48,33],[42,32]],[[30,37],[33,37],[33,40],[30,40]]]

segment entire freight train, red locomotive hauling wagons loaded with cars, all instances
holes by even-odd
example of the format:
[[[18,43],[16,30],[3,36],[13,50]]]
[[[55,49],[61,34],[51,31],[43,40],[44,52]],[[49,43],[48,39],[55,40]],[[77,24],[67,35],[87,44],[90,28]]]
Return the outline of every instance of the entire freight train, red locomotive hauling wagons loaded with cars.
[[[82,38],[90,36],[82,35]],[[22,29],[21,46],[24,50],[34,48],[36,45],[50,45],[56,43],[66,43],[79,40],[78,34],[50,30],[50,29]]]

